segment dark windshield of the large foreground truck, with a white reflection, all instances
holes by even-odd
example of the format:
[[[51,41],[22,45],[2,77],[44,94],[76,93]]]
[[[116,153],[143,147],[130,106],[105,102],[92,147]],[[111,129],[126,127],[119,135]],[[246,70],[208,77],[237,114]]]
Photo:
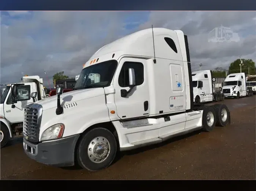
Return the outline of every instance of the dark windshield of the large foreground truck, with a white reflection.
[[[116,60],[108,60],[82,69],[74,89],[102,88],[110,85],[117,66]]]

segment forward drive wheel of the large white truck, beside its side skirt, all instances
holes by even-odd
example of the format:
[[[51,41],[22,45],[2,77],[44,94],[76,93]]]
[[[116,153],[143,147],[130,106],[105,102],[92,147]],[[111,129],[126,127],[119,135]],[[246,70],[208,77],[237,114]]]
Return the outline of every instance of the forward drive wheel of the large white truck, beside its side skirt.
[[[204,106],[203,109],[203,131],[210,132],[214,129],[216,124],[216,114],[214,108],[211,106]]]

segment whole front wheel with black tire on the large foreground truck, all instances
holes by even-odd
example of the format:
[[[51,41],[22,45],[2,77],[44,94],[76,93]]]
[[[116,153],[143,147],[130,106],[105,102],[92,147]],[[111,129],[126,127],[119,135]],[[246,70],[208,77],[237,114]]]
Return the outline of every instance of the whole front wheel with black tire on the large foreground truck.
[[[115,159],[117,143],[112,132],[95,128],[87,132],[77,147],[77,162],[89,171],[107,168]]]

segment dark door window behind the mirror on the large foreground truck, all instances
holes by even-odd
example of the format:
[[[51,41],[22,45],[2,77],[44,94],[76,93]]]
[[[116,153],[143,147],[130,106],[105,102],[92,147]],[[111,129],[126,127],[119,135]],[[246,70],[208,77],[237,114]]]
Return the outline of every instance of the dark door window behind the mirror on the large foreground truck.
[[[139,86],[144,82],[144,67],[140,62],[125,62],[118,77],[118,84],[121,87],[129,86],[129,68],[134,69],[135,85]]]

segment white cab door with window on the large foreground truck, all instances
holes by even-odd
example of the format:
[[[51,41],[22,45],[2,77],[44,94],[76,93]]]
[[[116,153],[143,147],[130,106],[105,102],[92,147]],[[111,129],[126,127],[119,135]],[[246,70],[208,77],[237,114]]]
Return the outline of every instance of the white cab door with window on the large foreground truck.
[[[129,87],[129,68],[134,69],[135,87],[121,97],[121,90],[130,89]],[[147,65],[144,59],[126,58],[120,60],[113,81],[115,87],[115,104],[117,115],[120,119],[149,115],[149,88]]]

